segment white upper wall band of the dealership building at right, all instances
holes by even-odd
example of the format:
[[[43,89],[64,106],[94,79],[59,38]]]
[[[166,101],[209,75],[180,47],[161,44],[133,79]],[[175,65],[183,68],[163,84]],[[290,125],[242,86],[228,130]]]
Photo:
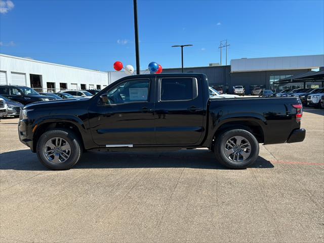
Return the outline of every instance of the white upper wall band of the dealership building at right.
[[[242,58],[231,60],[232,72],[312,69],[324,66],[324,55]]]

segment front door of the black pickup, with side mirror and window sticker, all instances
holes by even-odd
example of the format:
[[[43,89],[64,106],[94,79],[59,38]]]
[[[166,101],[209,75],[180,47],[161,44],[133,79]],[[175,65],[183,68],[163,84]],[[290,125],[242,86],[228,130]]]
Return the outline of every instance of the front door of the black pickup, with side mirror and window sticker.
[[[154,87],[150,78],[126,79],[94,99],[89,110],[94,142],[106,147],[155,144]]]

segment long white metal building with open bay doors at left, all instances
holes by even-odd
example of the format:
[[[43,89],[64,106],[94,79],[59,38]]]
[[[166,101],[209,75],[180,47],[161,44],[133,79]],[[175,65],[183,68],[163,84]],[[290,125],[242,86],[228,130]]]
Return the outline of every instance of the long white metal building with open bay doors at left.
[[[103,89],[108,73],[0,54],[0,85],[28,86],[39,92]]]

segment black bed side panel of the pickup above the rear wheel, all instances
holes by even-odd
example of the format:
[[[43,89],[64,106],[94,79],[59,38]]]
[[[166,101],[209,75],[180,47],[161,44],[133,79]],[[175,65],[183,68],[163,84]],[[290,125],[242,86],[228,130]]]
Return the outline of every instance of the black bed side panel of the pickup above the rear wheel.
[[[217,129],[230,121],[254,121],[264,134],[264,144],[285,143],[295,129],[299,98],[241,98],[211,100],[208,114],[208,136],[203,146],[209,146]]]

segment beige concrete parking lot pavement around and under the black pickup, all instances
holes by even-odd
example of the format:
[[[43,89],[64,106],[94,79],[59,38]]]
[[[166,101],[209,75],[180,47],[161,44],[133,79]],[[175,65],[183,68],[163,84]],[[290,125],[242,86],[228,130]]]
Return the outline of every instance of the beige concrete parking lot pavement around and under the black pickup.
[[[323,242],[324,111],[246,170],[207,149],[87,152],[50,171],[0,121],[1,242]]]

